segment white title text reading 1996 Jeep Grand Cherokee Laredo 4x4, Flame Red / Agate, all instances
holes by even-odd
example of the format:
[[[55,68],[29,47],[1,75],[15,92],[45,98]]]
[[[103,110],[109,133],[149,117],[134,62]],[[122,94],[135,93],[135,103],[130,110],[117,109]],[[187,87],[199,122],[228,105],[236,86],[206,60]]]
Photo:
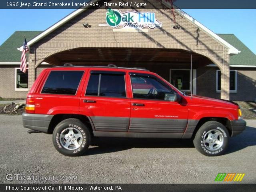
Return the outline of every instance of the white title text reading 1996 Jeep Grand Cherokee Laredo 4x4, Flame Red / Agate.
[[[74,7],[77,7],[77,6],[96,6],[96,7],[100,7],[98,3],[64,3],[64,2],[60,2],[60,3],[54,3],[54,2],[45,2],[45,3],[37,3],[37,2],[33,2],[33,3],[22,3],[22,2],[7,2],[7,6],[19,6],[19,7],[46,7],[46,6],[50,6],[50,7],[58,7],[58,6],[61,6],[61,7],[70,7],[70,6],[74,6]],[[128,4],[128,2],[126,3],[122,3],[122,2],[119,2],[119,3],[107,3],[107,2],[104,2],[104,5],[103,6],[123,6],[123,7],[140,7],[140,6],[144,6],[146,7],[147,4],[146,3],[136,3],[136,2],[131,2]]]

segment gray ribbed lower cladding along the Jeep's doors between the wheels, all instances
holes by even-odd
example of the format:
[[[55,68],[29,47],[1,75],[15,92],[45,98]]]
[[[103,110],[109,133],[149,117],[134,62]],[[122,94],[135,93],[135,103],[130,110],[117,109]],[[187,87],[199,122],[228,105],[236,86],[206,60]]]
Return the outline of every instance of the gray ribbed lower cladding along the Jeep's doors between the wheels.
[[[96,120],[96,122],[95,122]],[[129,125],[130,120],[130,127]],[[191,138],[198,120],[92,117],[94,136],[128,138]],[[111,127],[114,125],[114,127]],[[120,128],[122,125],[122,128]],[[188,126],[187,126],[188,125]],[[184,131],[188,133],[184,133]]]

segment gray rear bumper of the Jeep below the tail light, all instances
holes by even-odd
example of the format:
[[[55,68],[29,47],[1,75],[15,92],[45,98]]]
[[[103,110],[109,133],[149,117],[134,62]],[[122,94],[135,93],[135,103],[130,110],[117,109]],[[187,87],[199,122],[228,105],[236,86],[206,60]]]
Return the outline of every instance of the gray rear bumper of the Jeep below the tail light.
[[[48,132],[53,115],[22,113],[22,122],[25,128]]]

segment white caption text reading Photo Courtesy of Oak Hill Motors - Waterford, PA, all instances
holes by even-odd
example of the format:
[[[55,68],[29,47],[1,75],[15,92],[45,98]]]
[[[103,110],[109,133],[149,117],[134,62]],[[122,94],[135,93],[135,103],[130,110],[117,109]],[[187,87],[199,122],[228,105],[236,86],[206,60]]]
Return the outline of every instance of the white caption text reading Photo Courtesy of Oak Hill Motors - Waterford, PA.
[[[83,186],[6,186],[6,190],[84,190]],[[122,190],[121,186],[89,186],[90,190]]]

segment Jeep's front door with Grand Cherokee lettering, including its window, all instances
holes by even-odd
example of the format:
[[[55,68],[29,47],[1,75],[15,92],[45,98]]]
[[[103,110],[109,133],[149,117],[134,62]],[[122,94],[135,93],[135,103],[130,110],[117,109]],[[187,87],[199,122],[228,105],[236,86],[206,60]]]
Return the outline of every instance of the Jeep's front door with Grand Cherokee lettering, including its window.
[[[132,84],[129,132],[184,133],[188,122],[185,104],[167,100],[174,90],[160,78],[130,74]]]

